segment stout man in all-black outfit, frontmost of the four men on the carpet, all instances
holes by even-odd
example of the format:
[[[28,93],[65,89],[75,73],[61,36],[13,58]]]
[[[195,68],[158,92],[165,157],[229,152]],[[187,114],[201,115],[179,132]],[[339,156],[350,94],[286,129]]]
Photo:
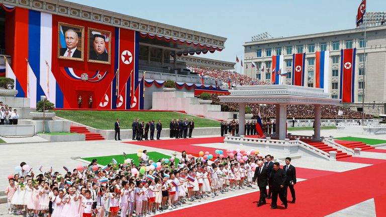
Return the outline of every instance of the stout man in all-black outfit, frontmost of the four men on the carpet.
[[[280,164],[278,162],[273,163],[273,169],[269,176],[269,187],[272,190],[271,209],[277,208],[277,195],[284,204],[284,208],[287,208],[288,206],[287,199],[284,197],[285,180],[285,171],[280,169]]]

